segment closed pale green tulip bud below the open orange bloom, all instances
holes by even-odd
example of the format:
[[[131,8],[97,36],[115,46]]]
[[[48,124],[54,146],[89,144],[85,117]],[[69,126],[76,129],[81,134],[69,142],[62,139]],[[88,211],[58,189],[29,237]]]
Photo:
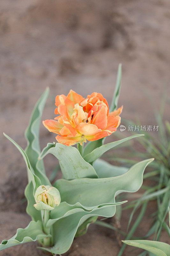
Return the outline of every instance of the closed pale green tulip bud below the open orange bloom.
[[[60,192],[57,188],[41,185],[35,192],[36,204],[33,206],[37,210],[53,210],[61,202]]]

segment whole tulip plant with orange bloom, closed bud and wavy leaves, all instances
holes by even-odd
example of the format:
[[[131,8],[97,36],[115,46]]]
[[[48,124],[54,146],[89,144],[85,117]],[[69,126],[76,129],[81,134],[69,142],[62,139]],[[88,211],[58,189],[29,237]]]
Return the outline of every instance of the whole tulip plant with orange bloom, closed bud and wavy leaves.
[[[48,143],[42,152],[39,128],[48,89],[33,109],[25,133],[26,149],[4,134],[18,148],[26,163],[26,212],[32,220],[26,228],[18,228],[12,238],[3,240],[0,250],[38,241],[45,251],[64,253],[69,250],[74,237],[83,235],[98,216],[112,217],[116,205],[127,202],[116,202],[117,195],[136,192],[141,187],[144,170],[153,158],[141,161],[129,170],[100,159],[107,150],[141,136],[133,135],[104,144],[105,137],[116,132],[121,121],[122,107],[117,109],[121,76],[119,65],[110,111],[107,100],[100,93],[83,98],[71,90],[67,96],[56,96],[57,116],[43,124],[57,134],[57,142]],[[86,140],[89,142],[85,143]],[[74,144],[77,148],[72,146]],[[63,174],[63,178],[54,184],[48,179],[43,164],[43,158],[49,153],[59,160]]]

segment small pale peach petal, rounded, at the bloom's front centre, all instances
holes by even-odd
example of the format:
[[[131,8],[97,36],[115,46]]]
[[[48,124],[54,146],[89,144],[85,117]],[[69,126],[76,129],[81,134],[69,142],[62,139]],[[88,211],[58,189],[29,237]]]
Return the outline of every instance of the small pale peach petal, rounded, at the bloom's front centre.
[[[98,132],[101,132],[101,129],[94,124],[89,123],[80,123],[75,126],[75,129],[85,136],[92,136]]]

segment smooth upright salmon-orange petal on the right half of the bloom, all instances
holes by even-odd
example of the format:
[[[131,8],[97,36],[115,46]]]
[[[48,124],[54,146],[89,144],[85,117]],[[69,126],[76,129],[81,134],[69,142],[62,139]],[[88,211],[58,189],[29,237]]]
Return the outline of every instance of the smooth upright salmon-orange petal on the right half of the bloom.
[[[91,124],[95,124],[99,129],[104,130],[107,127],[107,107],[102,105],[99,105],[99,107],[100,110],[94,112]]]

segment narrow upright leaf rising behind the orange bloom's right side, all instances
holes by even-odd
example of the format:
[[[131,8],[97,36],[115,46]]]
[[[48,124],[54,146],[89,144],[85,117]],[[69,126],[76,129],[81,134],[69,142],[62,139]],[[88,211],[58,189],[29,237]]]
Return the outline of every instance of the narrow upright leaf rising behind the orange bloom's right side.
[[[122,64],[119,64],[118,71],[117,71],[116,86],[115,86],[115,91],[113,94],[112,103],[110,106],[110,112],[117,109],[119,95],[120,95],[120,89],[121,89],[121,82],[122,82]]]

